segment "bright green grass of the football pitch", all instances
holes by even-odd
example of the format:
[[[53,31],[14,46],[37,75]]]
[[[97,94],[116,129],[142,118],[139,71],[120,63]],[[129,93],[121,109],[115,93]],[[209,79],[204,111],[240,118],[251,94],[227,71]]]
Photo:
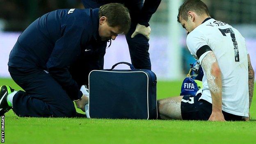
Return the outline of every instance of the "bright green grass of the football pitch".
[[[158,99],[179,95],[181,82],[158,82]],[[0,79],[0,85],[20,89],[11,79]],[[32,118],[17,117],[10,110],[5,115],[5,143],[253,144],[256,141],[255,93],[254,88],[248,122]]]

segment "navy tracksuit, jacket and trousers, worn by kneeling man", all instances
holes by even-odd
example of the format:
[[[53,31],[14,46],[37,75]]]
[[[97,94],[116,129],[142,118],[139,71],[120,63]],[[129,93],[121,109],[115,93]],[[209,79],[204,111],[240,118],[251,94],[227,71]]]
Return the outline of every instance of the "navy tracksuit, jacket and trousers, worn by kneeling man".
[[[9,55],[9,72],[25,90],[13,99],[21,117],[72,117],[86,73],[103,68],[106,41],[98,9],[59,9],[34,21]]]

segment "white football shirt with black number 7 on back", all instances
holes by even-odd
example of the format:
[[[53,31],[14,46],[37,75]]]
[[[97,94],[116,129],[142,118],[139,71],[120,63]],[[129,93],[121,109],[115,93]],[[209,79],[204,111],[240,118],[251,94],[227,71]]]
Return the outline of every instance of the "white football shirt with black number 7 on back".
[[[248,53],[245,38],[231,25],[208,18],[187,35],[187,47],[200,64],[210,52],[203,50],[207,46],[215,54],[222,73],[222,110],[248,117]],[[200,99],[212,103],[206,76],[203,76]]]

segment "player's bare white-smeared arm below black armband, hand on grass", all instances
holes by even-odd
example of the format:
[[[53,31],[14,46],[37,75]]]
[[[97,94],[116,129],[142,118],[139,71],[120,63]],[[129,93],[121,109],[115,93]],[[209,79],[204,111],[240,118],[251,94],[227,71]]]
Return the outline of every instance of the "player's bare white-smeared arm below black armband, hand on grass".
[[[212,96],[213,109],[210,121],[225,121],[222,114],[222,78],[219,64],[213,53],[210,51],[201,62],[206,73],[206,80]]]

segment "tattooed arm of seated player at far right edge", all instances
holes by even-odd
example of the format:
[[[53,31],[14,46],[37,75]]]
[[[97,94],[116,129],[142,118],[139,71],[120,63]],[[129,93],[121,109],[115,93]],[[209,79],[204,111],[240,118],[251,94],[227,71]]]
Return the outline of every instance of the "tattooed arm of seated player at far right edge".
[[[252,96],[254,92],[254,70],[251,66],[250,55],[248,57],[248,75],[249,75],[249,107],[251,107]]]

